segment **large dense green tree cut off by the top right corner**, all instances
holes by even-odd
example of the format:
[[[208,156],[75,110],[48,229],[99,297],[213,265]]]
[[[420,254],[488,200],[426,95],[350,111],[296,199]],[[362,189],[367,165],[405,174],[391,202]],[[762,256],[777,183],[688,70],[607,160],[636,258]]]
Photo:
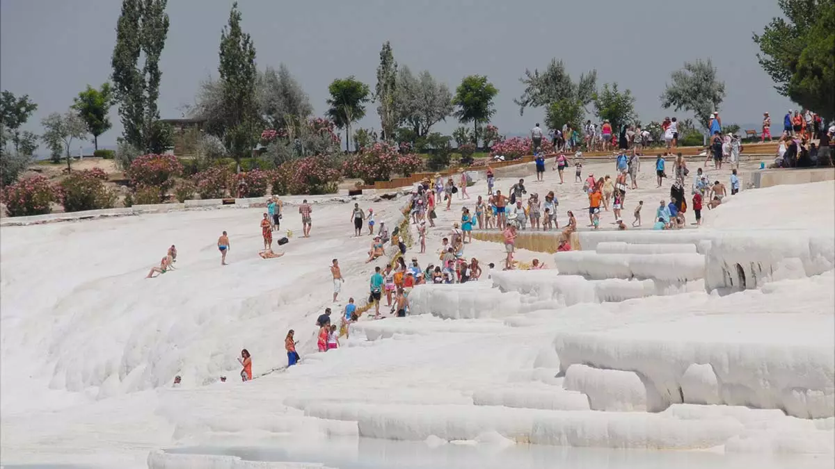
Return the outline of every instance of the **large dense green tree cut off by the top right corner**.
[[[763,70],[777,91],[835,119],[835,4],[832,0],[777,0],[785,18],[772,18],[753,35]]]

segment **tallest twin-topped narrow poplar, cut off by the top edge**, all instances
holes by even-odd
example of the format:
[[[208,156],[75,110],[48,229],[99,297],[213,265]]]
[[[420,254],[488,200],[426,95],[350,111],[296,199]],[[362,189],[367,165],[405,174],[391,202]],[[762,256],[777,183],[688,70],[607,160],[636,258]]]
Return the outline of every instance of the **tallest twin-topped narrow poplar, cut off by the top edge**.
[[[124,139],[138,149],[148,150],[159,143],[152,141],[154,123],[159,120],[159,56],[168,36],[167,0],[123,0],[116,23],[113,49],[114,93]],[[139,68],[139,58],[144,58]]]

